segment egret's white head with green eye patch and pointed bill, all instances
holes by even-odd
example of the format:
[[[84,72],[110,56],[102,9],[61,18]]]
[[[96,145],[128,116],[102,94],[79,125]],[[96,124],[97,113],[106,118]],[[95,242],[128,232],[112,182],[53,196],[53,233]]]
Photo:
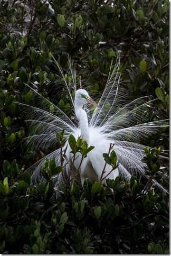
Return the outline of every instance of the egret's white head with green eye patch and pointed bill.
[[[90,103],[93,106],[96,106],[99,108],[96,102],[94,102],[94,100],[89,96],[87,90],[84,90],[84,89],[79,89],[75,93],[75,103],[82,106],[86,103]]]

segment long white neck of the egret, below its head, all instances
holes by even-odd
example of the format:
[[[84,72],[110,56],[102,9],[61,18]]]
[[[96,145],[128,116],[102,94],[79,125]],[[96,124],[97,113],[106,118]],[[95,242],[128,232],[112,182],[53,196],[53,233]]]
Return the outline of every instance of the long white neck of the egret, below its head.
[[[80,121],[81,135],[83,139],[89,144],[90,135],[89,135],[89,123],[86,112],[82,109],[82,106],[75,104],[75,115]]]

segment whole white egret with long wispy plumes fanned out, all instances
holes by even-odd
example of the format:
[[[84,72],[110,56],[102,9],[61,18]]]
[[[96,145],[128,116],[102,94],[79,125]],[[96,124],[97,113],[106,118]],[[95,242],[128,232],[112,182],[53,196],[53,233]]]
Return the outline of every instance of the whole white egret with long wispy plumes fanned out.
[[[63,166],[68,175],[72,166],[71,176],[77,170],[79,175],[74,178],[79,185],[83,185],[86,178],[94,181],[99,181],[101,173],[105,166],[103,153],[109,152],[110,145],[113,146],[120,161],[118,168],[111,172],[111,166],[106,164],[105,176],[115,179],[120,173],[122,178],[129,180],[131,175],[146,175],[146,165],[141,160],[144,158],[143,141],[162,131],[166,126],[165,120],[148,122],[146,111],[149,105],[153,102],[146,102],[147,97],[140,97],[129,102],[127,94],[120,88],[119,61],[115,68],[110,70],[109,77],[103,90],[103,93],[98,100],[98,104],[91,98],[88,90],[81,88],[77,77],[70,65],[70,79],[63,74],[63,70],[56,62],[63,78],[63,92],[67,95],[67,100],[70,103],[70,108],[75,115],[74,121],[71,120],[58,106],[51,103],[48,99],[41,96],[35,89],[36,97],[39,98],[39,106],[29,106],[32,111],[32,118],[27,120],[31,127],[36,127],[36,135],[30,135],[29,141],[34,141],[37,150],[42,150],[56,145],[56,134],[64,132],[65,144],[63,151],[65,152],[65,161]],[[111,65],[112,67],[112,65]],[[72,78],[72,79],[71,79]],[[58,85],[56,85],[58,86]],[[42,104],[40,104],[42,102]],[[68,144],[68,138],[73,135],[77,140],[81,136],[87,141],[88,146],[94,148],[83,159],[80,166],[81,154],[78,153],[73,161],[73,155]],[[61,149],[54,150],[45,158],[52,159],[55,157],[56,165],[61,164]],[[36,184],[42,179],[41,166],[45,162],[43,158],[35,165],[35,170],[32,175],[32,184]],[[60,177],[62,179],[62,176]],[[55,186],[58,185],[56,179]],[[102,183],[106,185],[106,180]],[[157,182],[154,180],[154,184]],[[159,184],[157,184],[160,186]]]

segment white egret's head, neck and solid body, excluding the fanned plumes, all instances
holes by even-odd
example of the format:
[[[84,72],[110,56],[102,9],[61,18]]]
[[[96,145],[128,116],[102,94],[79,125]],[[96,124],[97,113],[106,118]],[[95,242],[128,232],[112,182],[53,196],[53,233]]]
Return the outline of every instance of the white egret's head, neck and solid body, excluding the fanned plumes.
[[[88,92],[84,89],[79,89],[75,93],[74,100],[74,110],[75,116],[79,120],[79,129],[75,130],[74,137],[78,139],[79,136],[82,136],[83,140],[86,140],[88,145],[93,145],[94,149],[88,153],[88,156],[83,159],[81,166],[81,154],[76,155],[76,159],[73,162],[72,173],[75,173],[79,169],[81,184],[86,178],[91,179],[91,181],[100,181],[103,168],[105,167],[105,176],[110,179],[115,179],[118,175],[118,169],[111,171],[112,167],[109,164],[106,164],[104,158],[102,157],[103,153],[108,153],[110,143],[112,141],[108,140],[103,133],[103,130],[100,127],[89,127],[88,116],[86,111],[83,109],[83,105],[90,103],[96,107],[98,105],[94,100],[89,96]],[[98,107],[99,108],[99,107]],[[66,156],[68,159],[72,159],[71,148],[68,146]],[[106,165],[106,166],[105,166]],[[79,168],[80,166],[80,168]],[[69,170],[68,170],[69,171]],[[77,176],[75,179],[80,184],[80,180]],[[102,184],[106,184],[105,179],[102,180]]]

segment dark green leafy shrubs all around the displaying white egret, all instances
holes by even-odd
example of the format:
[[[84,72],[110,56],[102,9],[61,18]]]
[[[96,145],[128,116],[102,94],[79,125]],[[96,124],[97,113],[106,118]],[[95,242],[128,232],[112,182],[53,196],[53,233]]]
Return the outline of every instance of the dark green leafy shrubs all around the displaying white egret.
[[[54,59],[68,70],[69,55],[78,79],[98,96],[120,54],[128,100],[158,98],[149,106],[149,121],[167,119],[168,8],[168,0],[1,0],[1,253],[168,253],[168,195],[141,177],[108,180],[112,195],[100,182],[86,180],[84,190],[73,184],[54,198],[51,160],[46,184],[30,186],[27,169],[53,149],[24,143],[29,130],[17,104],[34,104],[25,85],[34,83],[71,115]],[[144,159],[149,179],[155,174],[168,189],[168,162],[160,160],[158,149],[168,150],[168,130],[146,145],[153,148]]]

